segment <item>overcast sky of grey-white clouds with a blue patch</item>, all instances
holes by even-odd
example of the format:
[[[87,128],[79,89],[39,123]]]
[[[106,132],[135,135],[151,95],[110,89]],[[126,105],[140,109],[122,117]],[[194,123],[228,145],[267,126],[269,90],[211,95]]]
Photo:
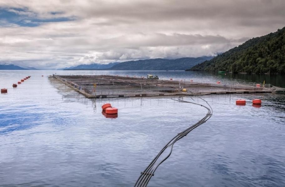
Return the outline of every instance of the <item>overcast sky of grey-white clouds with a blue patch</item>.
[[[215,55],[284,26],[284,0],[0,0],[0,64]]]

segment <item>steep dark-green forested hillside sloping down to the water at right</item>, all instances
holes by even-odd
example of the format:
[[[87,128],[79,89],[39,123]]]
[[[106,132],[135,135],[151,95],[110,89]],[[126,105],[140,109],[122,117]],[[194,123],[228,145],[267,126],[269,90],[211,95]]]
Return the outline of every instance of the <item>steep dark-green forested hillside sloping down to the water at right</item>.
[[[252,38],[190,70],[285,74],[285,27]]]

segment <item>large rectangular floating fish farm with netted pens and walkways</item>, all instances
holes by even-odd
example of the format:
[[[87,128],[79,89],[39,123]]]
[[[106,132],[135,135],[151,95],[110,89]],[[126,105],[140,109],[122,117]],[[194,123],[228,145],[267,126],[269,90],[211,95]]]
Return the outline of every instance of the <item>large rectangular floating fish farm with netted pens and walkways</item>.
[[[267,84],[198,83],[185,80],[148,79],[114,75],[53,75],[87,98],[205,95],[227,93],[273,93],[282,90]]]

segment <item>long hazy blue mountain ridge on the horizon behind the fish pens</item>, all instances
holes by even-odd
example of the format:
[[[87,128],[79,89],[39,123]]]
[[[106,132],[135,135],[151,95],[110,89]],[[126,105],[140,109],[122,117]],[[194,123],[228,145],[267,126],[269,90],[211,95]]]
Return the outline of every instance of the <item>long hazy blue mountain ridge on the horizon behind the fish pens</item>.
[[[179,59],[148,59],[132,60],[121,63],[111,63],[107,65],[91,64],[79,65],[65,68],[64,70],[186,70],[192,66],[211,60],[213,56],[202,56],[198,58],[179,58]],[[108,67],[109,66],[109,67]]]

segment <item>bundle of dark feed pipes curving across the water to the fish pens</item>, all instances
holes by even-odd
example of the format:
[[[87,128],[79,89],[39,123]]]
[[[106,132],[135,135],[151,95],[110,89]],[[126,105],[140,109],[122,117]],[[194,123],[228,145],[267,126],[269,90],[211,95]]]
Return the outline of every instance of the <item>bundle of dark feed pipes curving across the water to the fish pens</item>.
[[[190,92],[189,92],[190,95]],[[187,96],[189,96],[187,95]],[[197,95],[196,95],[197,96]],[[178,140],[180,140],[181,138],[183,138],[184,136],[186,136],[189,132],[191,132],[194,128],[200,126],[201,124],[205,123],[208,119],[210,119],[210,117],[213,114],[213,109],[212,107],[209,105],[209,103],[203,99],[200,98],[199,96],[197,96],[198,98],[200,98],[201,100],[205,101],[207,103],[208,106],[202,105],[202,104],[198,104],[198,103],[194,103],[194,102],[190,102],[190,101],[184,101],[181,98],[182,97],[186,97],[186,96],[180,96],[177,99],[173,99],[174,101],[178,101],[178,102],[183,102],[183,103],[191,103],[191,104],[195,104],[195,105],[200,105],[201,107],[204,107],[208,110],[207,114],[205,115],[205,117],[203,117],[199,122],[195,123],[194,125],[192,125],[191,127],[185,129],[184,131],[178,133],[174,138],[172,138],[172,140],[170,140],[163,148],[162,150],[158,153],[158,155],[153,159],[153,161],[151,161],[151,163],[148,165],[148,167],[141,172],[141,175],[139,176],[139,178],[137,179],[136,184],[134,185],[134,187],[146,187],[148,185],[148,182],[150,181],[150,179],[152,178],[152,176],[154,175],[155,170],[158,168],[158,166],[160,164],[162,164],[172,153],[173,150],[173,146],[174,143]],[[191,97],[192,98],[192,97]],[[192,98],[192,100],[194,100]],[[159,157],[163,154],[163,152],[167,149],[170,148],[170,152],[168,153],[168,155],[162,159],[162,161],[158,161]]]

